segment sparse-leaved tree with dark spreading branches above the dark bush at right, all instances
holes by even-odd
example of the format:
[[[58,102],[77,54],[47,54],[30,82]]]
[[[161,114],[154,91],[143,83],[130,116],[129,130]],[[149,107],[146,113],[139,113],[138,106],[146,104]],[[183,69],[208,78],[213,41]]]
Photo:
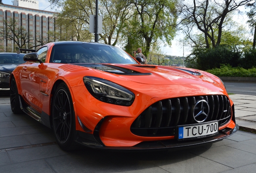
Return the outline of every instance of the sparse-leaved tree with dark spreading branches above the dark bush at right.
[[[180,8],[180,29],[197,48],[215,48],[221,44],[223,30],[231,21],[231,14],[251,0],[193,0],[184,2]],[[195,34],[202,33],[201,39]]]

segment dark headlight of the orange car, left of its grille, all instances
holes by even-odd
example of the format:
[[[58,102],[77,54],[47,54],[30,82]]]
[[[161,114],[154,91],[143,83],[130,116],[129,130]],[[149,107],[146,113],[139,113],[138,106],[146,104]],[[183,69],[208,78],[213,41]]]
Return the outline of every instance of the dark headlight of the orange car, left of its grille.
[[[130,106],[135,95],[128,89],[102,78],[84,76],[87,90],[99,101],[114,105]]]

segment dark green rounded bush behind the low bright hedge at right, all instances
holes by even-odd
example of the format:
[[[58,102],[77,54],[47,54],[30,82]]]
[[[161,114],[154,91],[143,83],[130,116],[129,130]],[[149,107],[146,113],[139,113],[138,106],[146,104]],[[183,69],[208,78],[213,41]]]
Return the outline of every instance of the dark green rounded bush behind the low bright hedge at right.
[[[241,52],[234,51],[228,45],[219,45],[215,48],[195,48],[186,58],[188,67],[208,70],[220,68],[220,64],[230,64],[237,67],[241,58]]]

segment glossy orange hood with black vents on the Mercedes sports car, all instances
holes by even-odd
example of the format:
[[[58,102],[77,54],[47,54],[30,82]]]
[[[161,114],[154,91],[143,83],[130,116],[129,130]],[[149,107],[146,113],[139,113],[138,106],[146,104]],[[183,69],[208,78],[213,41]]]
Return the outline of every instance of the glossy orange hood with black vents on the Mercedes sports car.
[[[137,96],[144,93],[147,99],[155,98],[156,92],[157,99],[227,95],[217,76],[191,68],[139,64],[62,64],[59,68],[66,71],[70,87],[84,85],[81,76],[94,76],[119,84]]]

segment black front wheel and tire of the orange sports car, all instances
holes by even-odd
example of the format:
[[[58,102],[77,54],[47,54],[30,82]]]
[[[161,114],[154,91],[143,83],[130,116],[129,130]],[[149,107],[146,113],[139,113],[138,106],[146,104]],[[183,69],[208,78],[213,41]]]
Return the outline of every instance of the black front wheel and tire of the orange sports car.
[[[52,125],[58,145],[66,151],[74,148],[75,118],[72,103],[68,87],[62,82],[52,102]]]

